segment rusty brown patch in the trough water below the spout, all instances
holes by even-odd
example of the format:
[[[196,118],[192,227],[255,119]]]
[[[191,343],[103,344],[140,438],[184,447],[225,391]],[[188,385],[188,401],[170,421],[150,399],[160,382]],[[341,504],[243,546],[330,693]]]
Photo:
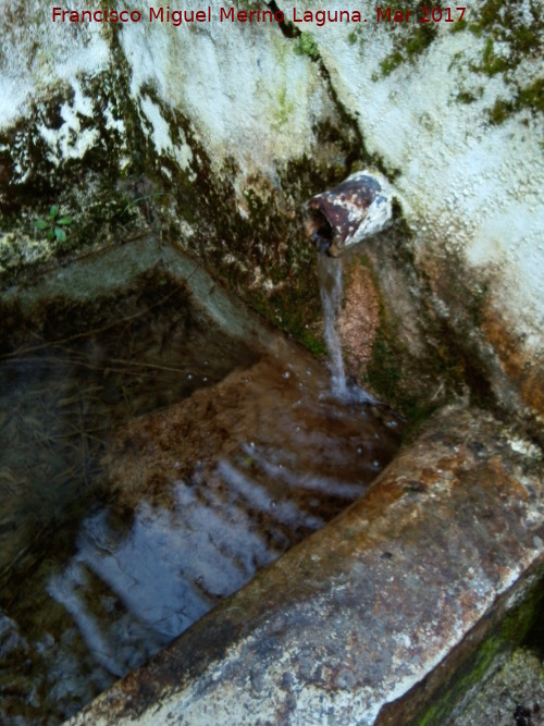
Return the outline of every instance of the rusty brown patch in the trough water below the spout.
[[[319,391],[327,390],[326,371],[309,356],[301,352],[298,355],[299,368],[289,364],[287,378],[275,359],[263,358],[250,369],[234,371],[211,390],[201,389],[164,411],[128,423],[103,459],[108,488],[116,492],[120,504],[135,508],[145,496],[156,505],[173,506],[174,480],[221,487],[215,473],[218,460],[235,460],[242,455],[246,458],[244,447],[251,440],[256,456],[260,447],[273,446],[274,441],[287,448],[285,439],[289,431],[295,435],[296,423],[311,440],[320,442],[319,451],[300,447],[297,466],[308,475],[333,480],[343,462],[346,481],[356,487],[370,484],[375,477],[370,464],[374,459],[388,463],[396,453],[400,422],[385,408],[376,409],[372,418],[354,418],[348,410],[344,415],[339,410],[325,414],[322,404],[312,402],[318,401]],[[310,390],[310,385],[318,387]],[[393,419],[395,426],[390,428]],[[376,431],[379,438],[374,438]],[[353,470],[348,472],[347,462],[351,450],[360,445],[357,442],[367,443],[357,460],[351,456]],[[308,506],[316,494],[292,485],[289,497]],[[335,506],[339,508],[333,514],[343,505],[336,501]]]

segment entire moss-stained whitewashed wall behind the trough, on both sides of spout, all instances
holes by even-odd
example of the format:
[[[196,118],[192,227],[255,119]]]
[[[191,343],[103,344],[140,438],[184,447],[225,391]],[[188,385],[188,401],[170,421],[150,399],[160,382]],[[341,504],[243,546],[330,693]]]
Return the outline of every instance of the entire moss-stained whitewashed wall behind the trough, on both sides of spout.
[[[53,22],[49,3],[7,0],[4,284],[151,229],[319,353],[300,207],[375,167],[398,206],[354,262],[380,323],[351,372],[413,418],[468,385],[542,420],[542,0],[481,0],[461,23],[419,23],[420,5],[322,23],[287,1],[280,24],[221,23],[231,3],[212,2],[211,21],[175,26],[132,0],[139,23]],[[326,4],[346,9],[361,11]],[[72,217],[65,242],[34,230],[51,205]]]

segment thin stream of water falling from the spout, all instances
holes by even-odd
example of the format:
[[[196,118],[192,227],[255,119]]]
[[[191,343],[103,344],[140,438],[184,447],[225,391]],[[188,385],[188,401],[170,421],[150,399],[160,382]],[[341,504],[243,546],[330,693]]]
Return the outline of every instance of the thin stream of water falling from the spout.
[[[342,260],[327,255],[318,255],[319,288],[325,323],[325,342],[331,360],[331,387],[335,397],[348,398],[346,371],[342,358],[342,348],[336,320],[342,309]]]

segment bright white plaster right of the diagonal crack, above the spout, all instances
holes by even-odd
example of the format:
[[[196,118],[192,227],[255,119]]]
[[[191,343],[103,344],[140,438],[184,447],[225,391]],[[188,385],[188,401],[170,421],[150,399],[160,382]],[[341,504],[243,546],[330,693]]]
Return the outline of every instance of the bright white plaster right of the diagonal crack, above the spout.
[[[280,3],[292,16],[312,2]],[[468,4],[468,3],[467,3]],[[470,3],[471,20],[479,3]],[[527,4],[527,3],[526,3]],[[541,0],[536,3],[544,12]],[[327,8],[361,10],[354,0]],[[509,98],[502,76],[486,77],[471,63],[481,60],[485,37],[469,32],[441,35],[413,63],[383,77],[380,62],[391,52],[392,33],[368,23],[350,42],[356,26],[300,24],[311,33],[341,101],[356,114],[369,151],[399,172],[395,185],[420,255],[442,249],[463,253],[478,274],[492,274],[494,305],[512,325],[531,357],[544,355],[544,128],[542,116],[522,111],[492,125],[485,111]],[[364,13],[363,13],[364,14]],[[527,14],[527,13],[526,13]],[[531,15],[527,14],[531,23]],[[405,32],[395,28],[395,33]],[[362,38],[362,42],[360,41]],[[526,58],[516,74],[528,85],[544,75],[544,62]],[[382,76],[373,79],[375,76]],[[460,103],[461,90],[483,95]]]

